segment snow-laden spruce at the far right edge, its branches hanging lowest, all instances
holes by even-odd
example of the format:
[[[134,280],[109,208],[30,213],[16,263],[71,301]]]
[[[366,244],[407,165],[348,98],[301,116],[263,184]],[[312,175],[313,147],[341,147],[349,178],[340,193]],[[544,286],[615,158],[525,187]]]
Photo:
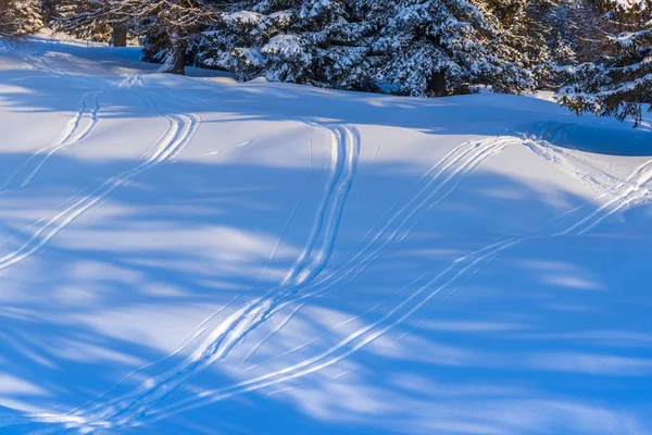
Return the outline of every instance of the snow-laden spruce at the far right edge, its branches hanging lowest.
[[[592,0],[591,5],[611,33],[594,59],[568,69],[568,85],[557,98],[578,114],[632,117],[638,124],[642,109],[652,109],[652,0]]]

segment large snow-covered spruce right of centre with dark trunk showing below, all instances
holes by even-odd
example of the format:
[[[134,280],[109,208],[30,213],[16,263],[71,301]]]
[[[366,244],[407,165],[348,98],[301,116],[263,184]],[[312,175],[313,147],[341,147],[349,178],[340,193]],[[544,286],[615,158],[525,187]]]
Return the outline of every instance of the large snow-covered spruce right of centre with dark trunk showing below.
[[[376,78],[400,94],[443,96],[477,85],[519,92],[535,87],[512,25],[485,0],[363,0],[379,36]],[[501,2],[506,4],[507,1]]]

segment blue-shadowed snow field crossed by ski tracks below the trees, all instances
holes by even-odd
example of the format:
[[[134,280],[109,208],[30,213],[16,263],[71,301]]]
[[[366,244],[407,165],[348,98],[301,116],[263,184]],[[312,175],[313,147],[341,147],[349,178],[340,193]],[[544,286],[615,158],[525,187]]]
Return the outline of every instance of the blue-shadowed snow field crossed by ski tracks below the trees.
[[[0,49],[1,434],[652,434],[649,124],[137,59]]]

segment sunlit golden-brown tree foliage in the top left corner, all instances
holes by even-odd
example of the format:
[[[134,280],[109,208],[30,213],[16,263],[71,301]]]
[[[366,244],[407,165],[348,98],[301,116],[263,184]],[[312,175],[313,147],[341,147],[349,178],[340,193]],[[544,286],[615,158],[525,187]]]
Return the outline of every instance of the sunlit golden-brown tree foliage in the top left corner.
[[[0,36],[29,35],[42,26],[43,14],[38,0],[0,1]]]

